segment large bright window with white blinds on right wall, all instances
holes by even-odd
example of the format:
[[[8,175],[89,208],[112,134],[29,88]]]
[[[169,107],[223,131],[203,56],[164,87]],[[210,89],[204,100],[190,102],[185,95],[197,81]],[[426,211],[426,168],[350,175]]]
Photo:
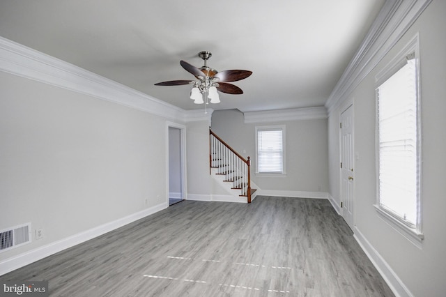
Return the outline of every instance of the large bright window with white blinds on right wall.
[[[376,208],[398,229],[421,241],[419,60],[410,49],[385,69],[376,88]]]

